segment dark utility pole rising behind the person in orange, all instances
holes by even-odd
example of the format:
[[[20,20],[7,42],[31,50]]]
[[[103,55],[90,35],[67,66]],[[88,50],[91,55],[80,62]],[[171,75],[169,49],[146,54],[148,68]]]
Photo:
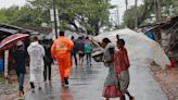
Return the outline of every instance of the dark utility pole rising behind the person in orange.
[[[58,22],[56,22],[56,7],[55,7],[55,0],[52,0],[53,5],[53,13],[54,13],[54,32],[55,32],[55,38],[58,38]]]

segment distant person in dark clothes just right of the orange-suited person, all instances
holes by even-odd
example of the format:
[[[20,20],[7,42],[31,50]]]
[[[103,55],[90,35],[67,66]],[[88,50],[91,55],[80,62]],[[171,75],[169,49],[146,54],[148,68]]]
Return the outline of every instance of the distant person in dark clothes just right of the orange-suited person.
[[[75,65],[76,65],[76,67],[77,67],[78,63],[77,63],[77,57],[76,57],[76,53],[77,53],[76,41],[75,41],[74,36],[72,36],[71,39],[73,40],[73,43],[74,43],[74,48],[73,48],[73,50],[72,50],[72,60],[71,60],[71,61],[72,61],[72,64],[73,64],[73,57],[74,57]]]

